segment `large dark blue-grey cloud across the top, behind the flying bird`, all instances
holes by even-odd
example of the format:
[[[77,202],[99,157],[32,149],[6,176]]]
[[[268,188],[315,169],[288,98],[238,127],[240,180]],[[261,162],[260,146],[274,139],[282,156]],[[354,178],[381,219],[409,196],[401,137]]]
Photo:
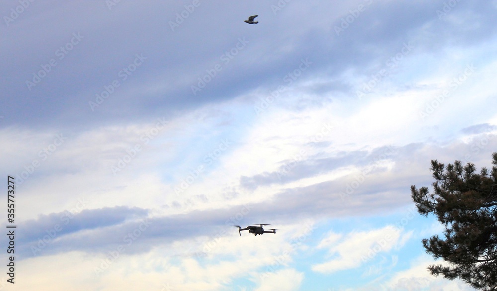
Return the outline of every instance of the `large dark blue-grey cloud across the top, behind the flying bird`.
[[[68,126],[74,130],[151,115],[176,116],[255,88],[273,90],[301,58],[313,62],[302,80],[336,77],[350,68],[369,75],[406,41],[416,42],[418,52],[434,47],[441,52],[443,45],[475,45],[495,34],[495,9],[490,3],[459,2],[446,18],[438,19],[436,10],[443,3],[375,1],[337,36],[334,26],[340,25],[352,4],[320,3],[318,17],[300,17],[297,25],[295,14],[315,9],[315,2],[291,2],[276,14],[268,3],[202,2],[172,31],[169,21],[175,21],[176,13],[181,13],[183,5],[190,1],[120,2],[111,10],[105,2],[84,6],[55,0],[33,2],[8,27],[0,28],[5,36],[0,58],[6,64],[0,69],[5,76],[0,81],[5,88],[0,105],[10,109],[2,113],[2,124]],[[2,15],[8,15],[10,8],[10,4],[3,3]],[[246,11],[259,11],[261,23],[249,26],[241,22]],[[343,13],[333,19],[329,11]],[[463,13],[470,16],[459,17]],[[451,17],[459,17],[461,22],[450,21]],[[228,29],[211,37],[219,27]],[[78,32],[84,38],[59,60],[57,50]],[[239,38],[249,43],[225,64],[220,57]],[[147,59],[127,80],[121,80],[120,70],[131,64],[136,54]],[[57,61],[57,66],[28,90],[25,81],[51,59]],[[193,95],[190,86],[216,64],[222,65],[222,70],[205,89]],[[119,80],[120,87],[92,112],[88,102],[113,80]],[[329,86],[347,90],[349,84],[323,84],[309,90],[319,93]],[[26,103],[29,106],[23,105]]]

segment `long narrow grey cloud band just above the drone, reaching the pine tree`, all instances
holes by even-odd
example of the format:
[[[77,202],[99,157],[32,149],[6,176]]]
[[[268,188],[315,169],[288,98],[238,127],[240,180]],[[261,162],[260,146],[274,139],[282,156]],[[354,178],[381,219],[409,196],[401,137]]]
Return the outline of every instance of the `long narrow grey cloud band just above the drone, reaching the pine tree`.
[[[471,154],[470,161],[477,167],[486,166],[490,161],[490,155],[487,155],[488,150],[485,149],[497,146],[497,136],[488,136],[485,148],[475,153],[474,144],[481,138],[482,135],[476,136],[469,143],[454,141],[443,148],[428,143],[397,146],[393,148],[392,154],[385,158],[381,156],[391,150],[386,147],[376,148],[369,154],[362,151],[344,154],[343,157],[350,157],[348,163],[335,158],[323,161],[323,164],[326,167],[330,165],[337,167],[336,164],[341,163],[344,166],[363,166],[368,170],[332,181],[282,189],[264,202],[247,205],[194,210],[166,217],[149,217],[149,209],[101,208],[74,213],[68,224],[64,224],[61,218],[67,217],[65,216],[67,212],[41,215],[36,220],[19,224],[16,253],[21,258],[74,250],[108,253],[123,245],[126,247],[126,253],[131,254],[145,252],[153,246],[171,244],[180,239],[213,237],[220,233],[229,233],[232,230],[231,225],[234,224],[273,223],[284,227],[285,223],[308,218],[385,213],[412,203],[409,190],[411,185],[420,187],[431,184],[432,177],[429,171],[431,159],[449,163],[457,157]],[[381,161],[388,159],[395,164],[389,169],[375,164],[378,159]],[[308,165],[299,171],[302,171],[301,178],[307,177],[308,173],[305,171],[316,173],[316,170]],[[252,183],[267,185],[272,182],[268,175],[261,174],[254,177]],[[293,179],[296,180],[297,177]],[[233,192],[232,189],[227,191]],[[226,198],[229,200],[233,197]],[[202,196],[199,199],[205,200],[208,197]],[[62,230],[49,238],[51,233],[54,234],[56,224],[61,224]],[[236,231],[234,235],[237,235]],[[38,243],[44,238],[47,243],[39,248]],[[6,238],[2,238],[1,243],[5,244]],[[39,251],[33,254],[33,248],[39,248]]]

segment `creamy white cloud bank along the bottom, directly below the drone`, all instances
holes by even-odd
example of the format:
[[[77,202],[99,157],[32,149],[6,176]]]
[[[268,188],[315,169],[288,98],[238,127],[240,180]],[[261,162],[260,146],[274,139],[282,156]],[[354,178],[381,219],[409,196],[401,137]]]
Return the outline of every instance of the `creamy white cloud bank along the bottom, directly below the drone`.
[[[16,283],[22,290],[40,291],[107,291],[129,286],[158,291],[163,288],[164,291],[215,291],[233,290],[228,286],[234,280],[251,274],[252,280],[259,285],[256,290],[278,287],[278,290],[295,291],[299,289],[304,274],[288,268],[288,264],[305,243],[305,239],[299,240],[298,237],[307,238],[309,234],[299,224],[288,225],[278,235],[240,237],[234,231],[223,236],[155,244],[149,252],[133,254],[126,251],[115,259],[110,259],[108,252],[66,252],[33,257],[19,262],[28,268],[22,280]],[[188,246],[190,248],[186,250]],[[203,251],[206,253],[197,256]],[[110,263],[103,263],[107,258]],[[46,264],[52,267],[46,268]],[[96,268],[100,268],[98,274]],[[267,270],[270,271],[265,272]],[[58,274],[60,280],[54,281],[50,274]],[[70,279],[66,281],[65,278]],[[75,282],[84,284],[74,285]],[[35,288],[37,284],[41,285]]]

